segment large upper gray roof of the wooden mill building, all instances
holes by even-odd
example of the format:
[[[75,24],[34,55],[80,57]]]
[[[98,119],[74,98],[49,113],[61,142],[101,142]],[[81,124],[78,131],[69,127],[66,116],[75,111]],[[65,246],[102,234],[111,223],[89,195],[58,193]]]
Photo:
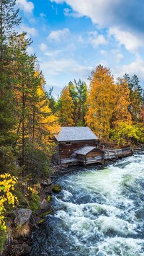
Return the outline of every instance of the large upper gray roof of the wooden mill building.
[[[97,140],[89,127],[62,127],[60,133],[55,136],[57,141],[87,141]]]

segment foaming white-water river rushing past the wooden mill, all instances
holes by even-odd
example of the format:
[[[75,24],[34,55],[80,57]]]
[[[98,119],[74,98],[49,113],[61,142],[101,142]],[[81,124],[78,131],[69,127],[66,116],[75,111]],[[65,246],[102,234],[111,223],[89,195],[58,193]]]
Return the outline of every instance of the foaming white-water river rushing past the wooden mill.
[[[34,232],[31,256],[144,255],[144,154],[56,180],[54,215]]]

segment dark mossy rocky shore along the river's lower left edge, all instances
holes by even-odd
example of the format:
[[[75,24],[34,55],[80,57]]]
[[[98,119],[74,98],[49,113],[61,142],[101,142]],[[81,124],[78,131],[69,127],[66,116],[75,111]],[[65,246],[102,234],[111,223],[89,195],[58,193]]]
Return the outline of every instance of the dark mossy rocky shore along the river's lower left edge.
[[[38,229],[45,221],[45,216],[53,213],[50,201],[53,193],[60,191],[60,185],[53,184],[51,178],[40,181],[40,207],[35,213],[28,208],[18,208],[12,213],[5,249],[1,256],[30,255],[32,230]]]

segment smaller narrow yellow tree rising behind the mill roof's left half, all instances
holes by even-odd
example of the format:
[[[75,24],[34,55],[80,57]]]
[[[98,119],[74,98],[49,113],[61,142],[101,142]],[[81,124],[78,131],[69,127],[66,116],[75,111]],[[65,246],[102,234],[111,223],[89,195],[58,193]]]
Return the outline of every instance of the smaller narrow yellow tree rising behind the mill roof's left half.
[[[73,126],[73,100],[68,87],[64,87],[60,95],[60,108],[58,118],[62,126]]]

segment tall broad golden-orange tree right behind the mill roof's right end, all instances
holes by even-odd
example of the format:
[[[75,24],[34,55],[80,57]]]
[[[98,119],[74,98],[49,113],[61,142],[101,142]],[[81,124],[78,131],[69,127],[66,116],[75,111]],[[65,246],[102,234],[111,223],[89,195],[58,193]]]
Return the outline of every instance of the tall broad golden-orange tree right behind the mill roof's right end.
[[[86,125],[100,139],[109,139],[110,122],[116,101],[116,87],[109,69],[101,65],[91,72],[86,100]]]

